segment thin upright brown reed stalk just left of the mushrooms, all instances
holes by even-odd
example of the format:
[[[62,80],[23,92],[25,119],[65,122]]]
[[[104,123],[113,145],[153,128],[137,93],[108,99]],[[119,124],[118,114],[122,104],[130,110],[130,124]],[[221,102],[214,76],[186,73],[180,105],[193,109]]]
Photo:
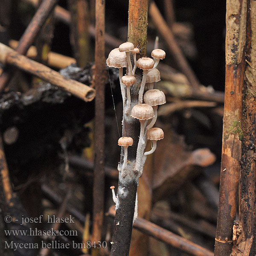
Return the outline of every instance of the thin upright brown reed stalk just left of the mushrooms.
[[[100,242],[102,236],[105,188],[105,0],[96,0],[95,37],[95,129],[94,129],[94,177],[93,177],[93,233],[92,242]],[[93,250],[99,255],[99,249]]]

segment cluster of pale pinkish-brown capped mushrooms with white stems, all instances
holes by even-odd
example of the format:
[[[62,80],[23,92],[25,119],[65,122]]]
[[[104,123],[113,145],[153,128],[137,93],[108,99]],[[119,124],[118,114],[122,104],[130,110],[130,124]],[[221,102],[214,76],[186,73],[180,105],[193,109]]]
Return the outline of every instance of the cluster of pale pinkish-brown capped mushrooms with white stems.
[[[136,55],[140,49],[134,47],[134,44],[125,42],[119,48],[113,49],[107,59],[108,67],[115,67],[119,69],[119,81],[122,93],[123,111],[124,115],[140,121],[140,139],[137,146],[137,155],[134,172],[139,173],[139,177],[143,173],[143,166],[146,156],[152,154],[157,146],[157,140],[163,139],[163,130],[160,128],[152,128],[157,119],[157,107],[166,103],[165,95],[162,91],[154,89],[154,83],[160,81],[160,72],[156,69],[160,59],[165,58],[166,53],[162,49],[154,49],[151,52],[152,58],[142,57],[137,60]],[[131,55],[133,57],[134,67],[131,63]],[[123,68],[126,68],[126,74],[123,76]],[[131,109],[131,91],[137,79],[135,76],[136,69],[143,70],[143,77],[140,84],[138,95],[138,104]],[[144,89],[147,85],[148,90]],[[144,100],[144,103],[143,103]],[[151,140],[151,150],[145,152],[145,140]],[[127,160],[128,146],[133,145],[131,137],[121,137],[118,140],[118,145],[122,146],[124,151],[123,163],[120,163],[119,171],[122,172],[122,177],[126,175],[125,169],[131,163]]]

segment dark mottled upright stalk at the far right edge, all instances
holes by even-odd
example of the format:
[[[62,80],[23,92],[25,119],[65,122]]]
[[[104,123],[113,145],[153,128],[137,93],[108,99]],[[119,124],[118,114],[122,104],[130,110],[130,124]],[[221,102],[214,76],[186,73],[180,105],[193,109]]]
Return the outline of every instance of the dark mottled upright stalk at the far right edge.
[[[245,1],[246,2],[246,1]],[[239,178],[239,223],[243,255],[256,255],[256,2],[247,1],[246,67],[242,115],[242,160]],[[247,245],[248,246],[247,246]],[[250,247],[251,246],[251,247]],[[247,247],[247,248],[245,248]],[[250,253],[249,253],[250,252]]]

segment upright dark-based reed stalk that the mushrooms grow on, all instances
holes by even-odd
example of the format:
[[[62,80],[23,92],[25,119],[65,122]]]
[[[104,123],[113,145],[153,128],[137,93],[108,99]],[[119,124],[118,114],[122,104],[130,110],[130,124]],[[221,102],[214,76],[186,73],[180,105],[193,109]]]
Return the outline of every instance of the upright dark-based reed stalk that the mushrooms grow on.
[[[146,54],[147,24],[148,0],[129,0],[128,41],[133,43],[134,47],[138,47],[140,49],[140,57],[145,57]],[[134,85],[131,94],[131,108],[138,104],[142,71],[137,69],[135,77],[136,84]],[[124,110],[125,109],[126,105],[124,106]],[[134,172],[134,168],[139,142],[140,122],[137,119],[132,118],[130,114],[125,114],[124,110],[122,136],[132,137],[134,142],[128,150],[128,159],[131,163],[127,167],[127,175],[122,177],[122,172],[119,172],[117,189],[118,204],[116,205],[111,256],[129,255],[134,207],[139,179],[139,174]],[[122,148],[121,163],[123,161],[123,152]]]

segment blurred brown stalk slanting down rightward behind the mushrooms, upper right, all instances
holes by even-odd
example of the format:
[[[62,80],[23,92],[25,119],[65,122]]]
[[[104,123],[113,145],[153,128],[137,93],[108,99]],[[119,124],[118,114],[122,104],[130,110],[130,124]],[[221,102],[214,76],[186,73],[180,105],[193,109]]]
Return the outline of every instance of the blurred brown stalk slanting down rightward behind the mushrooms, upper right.
[[[161,15],[154,1],[151,1],[148,12],[154,23],[154,26],[156,27],[160,35],[163,37],[169,51],[175,58],[175,61],[178,67],[180,68],[180,71],[187,77],[191,86],[195,90],[197,90],[200,85],[200,82],[196,78],[192,68],[189,66],[189,63],[186,61],[186,58],[184,57],[180,47],[178,46],[175,40],[172,30],[169,28],[166,21],[163,19],[163,16]]]

